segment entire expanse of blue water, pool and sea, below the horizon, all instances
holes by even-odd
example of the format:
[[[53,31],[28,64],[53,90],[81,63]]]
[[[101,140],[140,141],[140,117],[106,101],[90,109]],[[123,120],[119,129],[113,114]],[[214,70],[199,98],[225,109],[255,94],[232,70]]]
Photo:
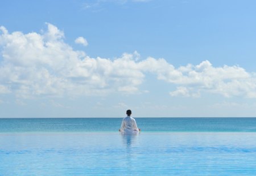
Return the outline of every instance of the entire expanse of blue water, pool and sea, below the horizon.
[[[0,175],[256,175],[256,118],[0,118]]]

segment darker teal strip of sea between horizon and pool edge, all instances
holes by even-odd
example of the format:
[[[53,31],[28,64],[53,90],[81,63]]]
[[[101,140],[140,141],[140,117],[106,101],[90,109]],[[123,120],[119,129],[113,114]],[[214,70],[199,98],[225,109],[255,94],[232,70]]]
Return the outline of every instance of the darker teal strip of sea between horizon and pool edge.
[[[256,118],[135,118],[142,132],[256,132]],[[0,132],[114,132],[122,118],[0,118]]]

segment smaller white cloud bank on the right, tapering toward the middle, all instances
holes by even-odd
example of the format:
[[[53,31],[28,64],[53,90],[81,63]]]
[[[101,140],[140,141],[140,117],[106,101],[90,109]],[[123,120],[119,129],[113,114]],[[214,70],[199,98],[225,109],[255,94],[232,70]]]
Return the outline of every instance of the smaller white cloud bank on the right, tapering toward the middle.
[[[239,66],[213,67],[209,61],[199,65],[175,68],[165,59],[147,58],[138,63],[144,72],[152,72],[159,80],[177,85],[171,96],[197,97],[201,91],[225,97],[256,98],[256,76]],[[182,86],[182,87],[181,87]]]

